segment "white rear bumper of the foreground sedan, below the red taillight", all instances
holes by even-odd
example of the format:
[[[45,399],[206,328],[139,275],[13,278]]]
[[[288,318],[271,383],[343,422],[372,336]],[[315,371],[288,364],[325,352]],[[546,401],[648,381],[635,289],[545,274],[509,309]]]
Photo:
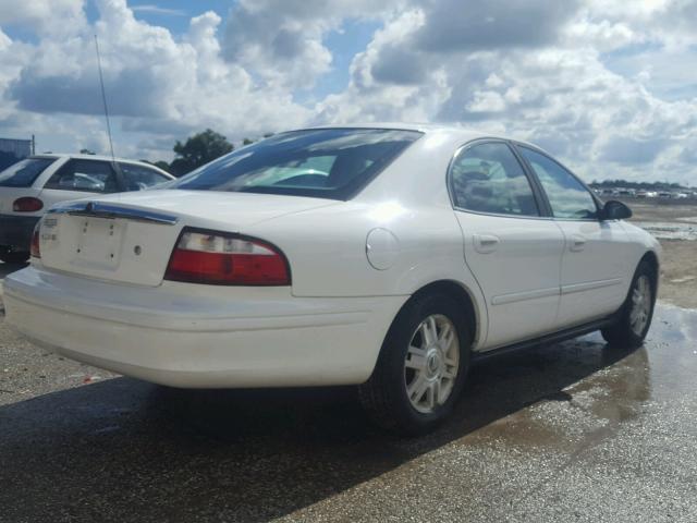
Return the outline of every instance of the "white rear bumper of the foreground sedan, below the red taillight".
[[[134,288],[28,267],[7,277],[3,300],[8,324],[40,345],[184,388],[363,382],[406,300],[203,287]]]

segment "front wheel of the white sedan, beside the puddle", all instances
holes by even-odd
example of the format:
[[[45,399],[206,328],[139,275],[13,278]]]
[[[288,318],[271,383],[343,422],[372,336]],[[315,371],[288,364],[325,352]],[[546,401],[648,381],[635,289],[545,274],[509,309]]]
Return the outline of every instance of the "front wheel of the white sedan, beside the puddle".
[[[644,343],[653,317],[657,278],[651,265],[639,264],[617,323],[600,331],[608,343],[626,349],[636,349]]]

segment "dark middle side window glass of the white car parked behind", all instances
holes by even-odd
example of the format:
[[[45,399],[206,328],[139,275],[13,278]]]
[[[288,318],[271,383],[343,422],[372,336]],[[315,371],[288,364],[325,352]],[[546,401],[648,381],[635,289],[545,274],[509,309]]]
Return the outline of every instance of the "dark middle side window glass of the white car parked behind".
[[[70,160],[46,183],[45,188],[88,193],[117,193],[117,174],[108,161]]]

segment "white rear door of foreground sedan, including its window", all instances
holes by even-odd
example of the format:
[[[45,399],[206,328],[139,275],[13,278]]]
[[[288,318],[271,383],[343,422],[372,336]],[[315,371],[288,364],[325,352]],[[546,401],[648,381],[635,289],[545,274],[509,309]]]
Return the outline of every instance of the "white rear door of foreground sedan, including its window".
[[[564,236],[503,141],[476,142],[453,159],[449,183],[465,260],[486,296],[485,349],[549,332],[559,305]]]

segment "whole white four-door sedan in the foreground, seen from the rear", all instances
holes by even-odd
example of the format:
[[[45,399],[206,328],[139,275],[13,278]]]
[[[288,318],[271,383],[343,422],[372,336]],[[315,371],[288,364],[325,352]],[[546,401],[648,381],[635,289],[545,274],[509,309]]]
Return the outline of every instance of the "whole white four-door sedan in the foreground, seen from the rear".
[[[643,342],[660,247],[629,216],[522,142],[292,131],[163,190],[53,207],[7,320],[174,387],[355,384],[377,422],[423,433],[478,358],[598,329]]]

